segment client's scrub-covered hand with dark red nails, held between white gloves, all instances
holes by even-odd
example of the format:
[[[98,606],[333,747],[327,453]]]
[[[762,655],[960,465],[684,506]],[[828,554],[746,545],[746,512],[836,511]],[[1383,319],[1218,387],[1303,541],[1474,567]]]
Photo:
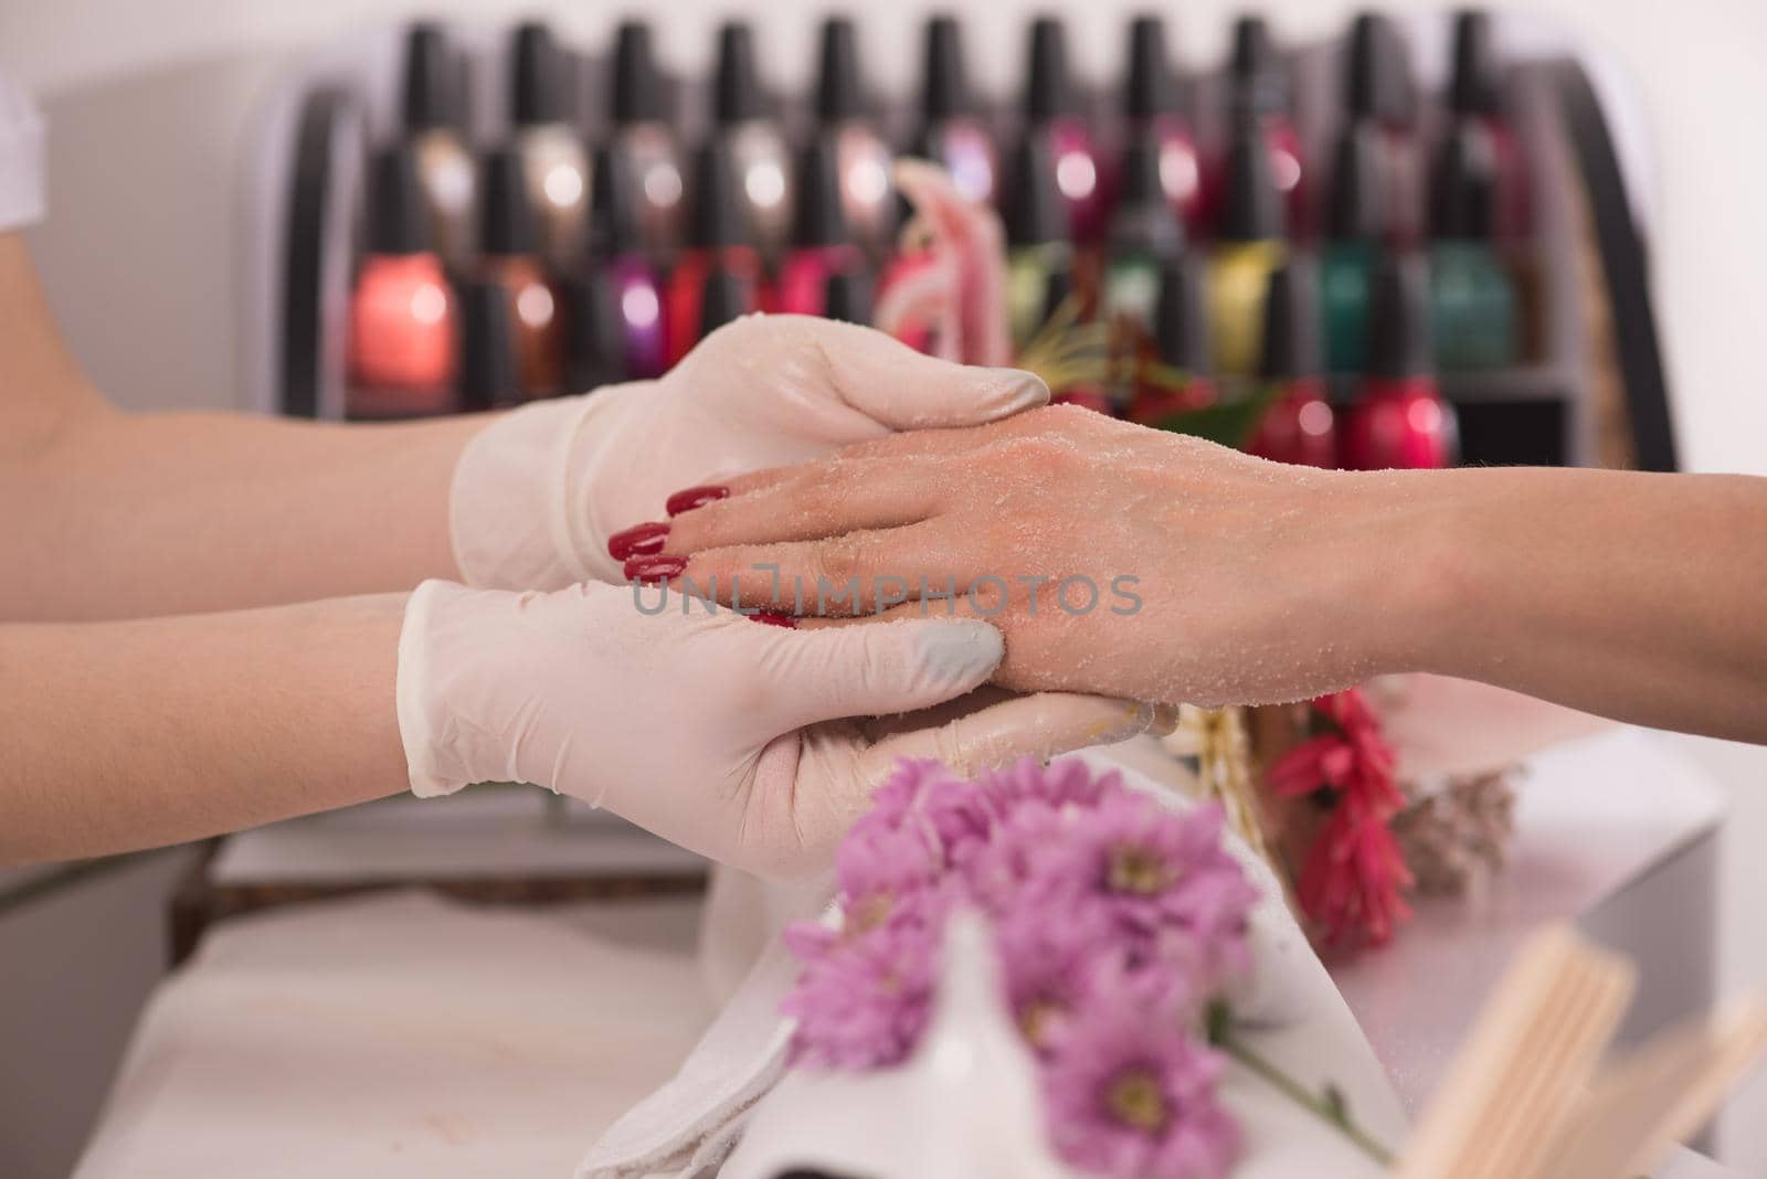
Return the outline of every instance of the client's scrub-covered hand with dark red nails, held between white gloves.
[[[740,577],[742,600],[788,612],[988,618],[1011,688],[1269,702],[1384,671],[1396,582],[1366,552],[1403,487],[1048,408],[733,480],[663,554],[691,554],[677,588],[728,600]]]

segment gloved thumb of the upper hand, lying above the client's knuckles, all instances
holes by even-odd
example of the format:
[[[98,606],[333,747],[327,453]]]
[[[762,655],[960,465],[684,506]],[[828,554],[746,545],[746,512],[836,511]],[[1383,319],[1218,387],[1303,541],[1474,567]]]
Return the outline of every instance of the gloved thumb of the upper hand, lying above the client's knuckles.
[[[776,330],[811,344],[834,394],[892,431],[952,429],[1009,418],[1050,402],[1050,387],[1023,369],[984,369],[919,353],[857,323],[769,316]]]

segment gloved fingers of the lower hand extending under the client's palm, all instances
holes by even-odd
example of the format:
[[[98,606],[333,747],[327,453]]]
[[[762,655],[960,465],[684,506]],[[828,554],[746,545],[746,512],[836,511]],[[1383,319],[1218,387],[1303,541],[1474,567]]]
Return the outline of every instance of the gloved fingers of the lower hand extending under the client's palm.
[[[958,717],[938,727],[901,732],[864,754],[864,773],[878,777],[901,757],[937,757],[959,775],[1050,759],[1088,745],[1113,745],[1145,732],[1154,708],[1108,695],[1039,692]]]

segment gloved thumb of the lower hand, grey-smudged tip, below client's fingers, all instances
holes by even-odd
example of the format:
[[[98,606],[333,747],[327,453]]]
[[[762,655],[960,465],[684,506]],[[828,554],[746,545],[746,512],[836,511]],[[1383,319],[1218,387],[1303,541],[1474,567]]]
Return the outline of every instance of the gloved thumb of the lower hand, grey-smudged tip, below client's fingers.
[[[972,618],[914,618],[818,630],[753,628],[755,674],[777,731],[931,708],[982,685],[1005,641]]]

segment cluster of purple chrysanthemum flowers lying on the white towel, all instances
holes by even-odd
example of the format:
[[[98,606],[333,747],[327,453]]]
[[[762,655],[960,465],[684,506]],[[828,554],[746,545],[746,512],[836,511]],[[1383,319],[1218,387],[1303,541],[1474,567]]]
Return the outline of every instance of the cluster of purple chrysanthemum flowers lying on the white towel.
[[[1126,1179],[1216,1179],[1239,1131],[1216,1098],[1207,1003],[1249,967],[1256,890],[1221,812],[1173,814],[1081,762],[961,782],[901,762],[836,854],[841,923],[797,925],[795,1064],[903,1063],[945,921],[993,923],[1000,1001],[1037,1059],[1051,1142]]]

